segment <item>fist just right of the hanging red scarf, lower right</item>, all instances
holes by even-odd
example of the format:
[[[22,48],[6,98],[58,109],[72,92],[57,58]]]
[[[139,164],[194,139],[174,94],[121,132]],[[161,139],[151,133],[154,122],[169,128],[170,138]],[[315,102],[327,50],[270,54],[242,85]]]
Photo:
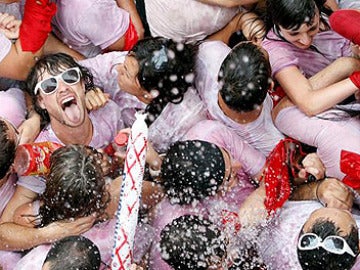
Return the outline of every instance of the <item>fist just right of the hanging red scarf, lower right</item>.
[[[317,180],[325,177],[325,166],[316,153],[306,155],[301,164],[304,168],[300,169],[299,177],[306,179],[307,174],[312,174]]]

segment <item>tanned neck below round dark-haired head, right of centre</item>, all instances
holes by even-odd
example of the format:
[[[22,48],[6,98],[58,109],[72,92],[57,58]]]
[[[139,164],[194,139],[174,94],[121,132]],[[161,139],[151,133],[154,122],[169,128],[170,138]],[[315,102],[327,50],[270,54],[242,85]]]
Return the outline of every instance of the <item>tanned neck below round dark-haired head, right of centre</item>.
[[[218,104],[223,113],[229,117],[231,120],[239,123],[239,124],[248,124],[254,122],[261,113],[262,105],[259,108],[252,110],[250,112],[238,112],[231,108],[229,108],[224,100],[222,99],[221,95],[218,94]]]

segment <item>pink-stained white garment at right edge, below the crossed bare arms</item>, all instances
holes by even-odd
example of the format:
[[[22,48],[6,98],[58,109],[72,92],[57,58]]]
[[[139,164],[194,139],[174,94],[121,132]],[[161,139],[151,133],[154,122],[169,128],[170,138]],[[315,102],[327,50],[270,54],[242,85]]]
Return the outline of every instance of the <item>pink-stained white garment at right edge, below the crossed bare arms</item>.
[[[328,110],[322,116],[331,112],[337,110]],[[316,116],[308,117],[292,106],[280,111],[275,124],[292,138],[317,147],[317,154],[329,177],[343,179],[345,176],[340,170],[341,150],[360,153],[360,121],[356,117],[342,121],[323,120]]]

